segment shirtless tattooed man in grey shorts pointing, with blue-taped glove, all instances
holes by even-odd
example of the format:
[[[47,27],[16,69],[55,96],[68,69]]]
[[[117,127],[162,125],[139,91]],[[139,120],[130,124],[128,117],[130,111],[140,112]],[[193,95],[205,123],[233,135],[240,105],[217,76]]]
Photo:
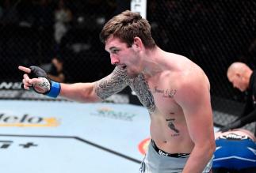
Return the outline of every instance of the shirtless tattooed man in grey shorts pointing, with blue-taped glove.
[[[113,17],[100,37],[116,66],[107,77],[91,83],[60,84],[50,81],[37,66],[19,66],[25,72],[23,87],[91,103],[129,86],[151,118],[152,140],[140,171],[210,172],[215,139],[210,83],[204,71],[189,58],[158,47],[150,24],[139,13],[127,10]]]

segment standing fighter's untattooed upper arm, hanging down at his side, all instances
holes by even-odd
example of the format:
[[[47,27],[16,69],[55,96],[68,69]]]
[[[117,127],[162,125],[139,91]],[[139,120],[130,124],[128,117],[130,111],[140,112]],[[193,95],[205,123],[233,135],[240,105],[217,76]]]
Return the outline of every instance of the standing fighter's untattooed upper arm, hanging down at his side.
[[[203,81],[201,77],[185,79],[175,96],[195,144],[203,144],[209,138],[214,140],[209,85]]]

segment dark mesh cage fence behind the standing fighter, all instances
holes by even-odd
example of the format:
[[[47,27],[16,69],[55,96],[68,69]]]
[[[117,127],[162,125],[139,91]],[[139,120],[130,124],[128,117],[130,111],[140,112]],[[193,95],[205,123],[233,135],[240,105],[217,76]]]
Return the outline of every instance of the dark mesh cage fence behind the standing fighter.
[[[36,98],[19,87],[22,77],[17,70],[19,65],[41,66],[55,76],[62,73],[62,80],[67,83],[96,81],[111,73],[113,66],[98,35],[105,21],[130,9],[130,3],[129,0],[1,1],[1,98]],[[208,75],[214,122],[224,126],[233,121],[243,109],[246,94],[231,86],[226,71],[235,61],[246,62],[253,69],[256,66],[256,2],[151,0],[147,1],[147,20],[159,47],[190,58]],[[132,103],[138,103],[130,91],[123,93],[132,98]],[[254,124],[246,128],[253,130]]]

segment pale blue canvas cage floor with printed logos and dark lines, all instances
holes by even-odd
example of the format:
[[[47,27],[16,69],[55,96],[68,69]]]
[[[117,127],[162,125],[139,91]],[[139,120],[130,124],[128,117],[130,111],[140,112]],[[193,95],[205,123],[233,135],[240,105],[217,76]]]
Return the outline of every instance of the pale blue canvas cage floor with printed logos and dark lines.
[[[131,104],[0,100],[1,172],[139,172],[149,122]]]

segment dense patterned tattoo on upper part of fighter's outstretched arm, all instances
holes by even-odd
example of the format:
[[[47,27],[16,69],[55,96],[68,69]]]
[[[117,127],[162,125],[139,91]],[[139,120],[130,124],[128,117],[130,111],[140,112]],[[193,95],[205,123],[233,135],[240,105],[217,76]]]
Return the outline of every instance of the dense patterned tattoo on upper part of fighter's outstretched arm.
[[[104,77],[96,82],[95,92],[102,100],[109,96],[120,92],[124,89],[126,84],[127,75],[124,70],[116,67],[108,77]]]

